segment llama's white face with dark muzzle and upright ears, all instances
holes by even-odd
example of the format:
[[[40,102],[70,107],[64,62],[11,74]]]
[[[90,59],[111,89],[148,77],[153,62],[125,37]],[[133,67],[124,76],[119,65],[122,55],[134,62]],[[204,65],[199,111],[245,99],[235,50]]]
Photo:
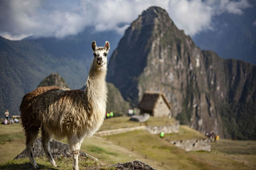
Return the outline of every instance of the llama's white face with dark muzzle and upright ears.
[[[93,50],[93,55],[94,55],[94,60],[93,62],[97,65],[97,66],[104,66],[105,64],[107,64],[107,55],[109,52],[109,42],[106,41],[106,44],[104,47],[99,46],[97,47],[96,42],[93,41],[92,42],[92,50]]]

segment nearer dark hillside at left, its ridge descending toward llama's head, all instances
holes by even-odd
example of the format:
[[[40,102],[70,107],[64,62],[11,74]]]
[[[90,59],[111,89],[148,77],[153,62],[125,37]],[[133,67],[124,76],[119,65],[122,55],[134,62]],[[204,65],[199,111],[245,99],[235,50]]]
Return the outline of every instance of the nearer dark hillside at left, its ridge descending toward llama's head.
[[[88,46],[90,48],[90,46]],[[5,109],[19,115],[21,99],[35,90],[40,81],[58,72],[70,87],[81,87],[86,81],[89,61],[56,57],[31,40],[10,41],[0,37],[0,114]]]

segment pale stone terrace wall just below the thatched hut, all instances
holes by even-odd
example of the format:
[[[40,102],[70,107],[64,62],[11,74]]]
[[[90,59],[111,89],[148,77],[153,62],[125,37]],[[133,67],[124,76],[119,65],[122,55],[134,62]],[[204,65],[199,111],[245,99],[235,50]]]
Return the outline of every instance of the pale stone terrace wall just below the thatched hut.
[[[177,122],[177,124],[174,125],[159,125],[159,126],[153,126],[147,127],[147,131],[151,134],[159,134],[160,132],[164,132],[164,134],[172,134],[172,133],[179,133],[180,129],[180,122]]]

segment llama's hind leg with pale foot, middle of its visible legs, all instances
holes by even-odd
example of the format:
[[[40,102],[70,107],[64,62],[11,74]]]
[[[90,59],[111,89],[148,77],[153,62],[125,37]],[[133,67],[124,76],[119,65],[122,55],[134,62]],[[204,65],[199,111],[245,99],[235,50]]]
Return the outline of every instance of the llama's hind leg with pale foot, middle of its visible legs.
[[[57,167],[50,151],[50,145],[49,145],[50,139],[51,139],[51,135],[49,134],[49,132],[45,131],[44,127],[42,127],[42,145],[44,148],[45,155],[51,162],[52,166]]]

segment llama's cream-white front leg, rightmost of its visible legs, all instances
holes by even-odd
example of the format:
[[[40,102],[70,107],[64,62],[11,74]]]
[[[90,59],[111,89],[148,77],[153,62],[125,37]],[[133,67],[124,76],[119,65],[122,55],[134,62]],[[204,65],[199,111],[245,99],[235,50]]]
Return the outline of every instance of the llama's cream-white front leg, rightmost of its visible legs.
[[[78,167],[78,157],[79,157],[79,150],[81,147],[81,144],[83,143],[84,138],[77,138],[77,136],[72,136],[71,138],[68,138],[68,143],[70,145],[70,148],[73,153],[73,169],[79,170]]]

